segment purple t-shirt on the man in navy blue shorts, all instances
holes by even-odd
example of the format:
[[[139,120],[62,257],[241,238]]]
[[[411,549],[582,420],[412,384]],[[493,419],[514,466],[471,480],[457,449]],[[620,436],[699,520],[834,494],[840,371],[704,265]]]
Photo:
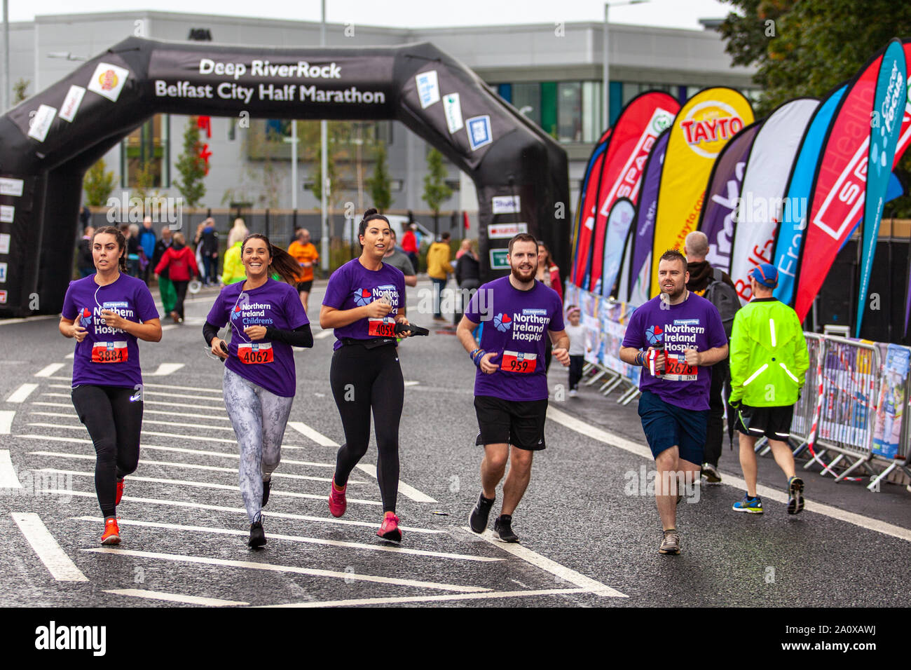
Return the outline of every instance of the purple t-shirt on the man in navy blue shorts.
[[[665,374],[652,376],[648,367],[643,368],[640,389],[651,391],[675,407],[708,409],[711,367],[688,366],[683,351],[705,351],[728,344],[715,305],[691,292],[681,304],[662,308],[658,295],[637,307],[630,317],[623,346],[648,349],[658,342],[664,343],[668,355]]]

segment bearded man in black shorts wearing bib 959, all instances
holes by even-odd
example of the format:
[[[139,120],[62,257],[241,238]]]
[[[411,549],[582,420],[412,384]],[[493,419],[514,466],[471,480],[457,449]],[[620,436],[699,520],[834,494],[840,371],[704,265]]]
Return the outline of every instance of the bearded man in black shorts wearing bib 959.
[[[569,337],[563,326],[558,294],[535,279],[537,240],[527,232],[509,241],[510,273],[485,283],[468,303],[456,335],[477,367],[476,444],[484,447],[481,495],[468,520],[471,530],[484,532],[496,498],[496,486],[506,472],[503,505],[494,522],[494,537],[517,542],[512,515],[531,479],[535,451],[545,448],[548,377],[544,366],[545,337],[553,356],[569,365]],[[472,331],[485,322],[481,344]],[[511,448],[510,448],[511,447]]]

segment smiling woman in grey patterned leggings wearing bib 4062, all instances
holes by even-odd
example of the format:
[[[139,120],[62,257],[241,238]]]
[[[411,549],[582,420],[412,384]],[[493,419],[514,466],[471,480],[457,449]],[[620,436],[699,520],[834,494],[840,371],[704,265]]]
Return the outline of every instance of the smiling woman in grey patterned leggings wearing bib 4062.
[[[262,508],[269,500],[272,472],[281,462],[297,378],[292,346],[313,345],[310,321],[291,283],[297,262],[259,233],[241,243],[244,282],[221,289],[202,335],[212,353],[226,359],[225,407],[241,447],[241,497],[250,518],[252,548],[266,543]],[[285,282],[276,282],[270,273]],[[217,335],[230,323],[230,345]]]

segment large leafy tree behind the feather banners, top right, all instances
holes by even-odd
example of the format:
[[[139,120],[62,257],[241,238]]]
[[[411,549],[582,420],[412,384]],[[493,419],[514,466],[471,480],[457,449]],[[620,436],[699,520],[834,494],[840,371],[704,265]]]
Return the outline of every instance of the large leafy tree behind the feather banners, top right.
[[[911,5],[892,0],[727,2],[740,12],[729,14],[718,31],[734,65],[757,67],[753,81],[763,88],[757,118],[792,98],[822,98],[854,77],[892,37],[911,34]],[[911,152],[899,168],[911,170]],[[911,197],[886,209],[911,216]]]

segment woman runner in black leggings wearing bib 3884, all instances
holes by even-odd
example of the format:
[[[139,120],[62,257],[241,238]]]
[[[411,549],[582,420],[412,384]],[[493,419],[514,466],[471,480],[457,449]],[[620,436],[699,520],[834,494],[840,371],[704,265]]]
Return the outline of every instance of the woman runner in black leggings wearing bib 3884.
[[[123,478],[139,462],[142,372],[137,339],[159,342],[159,311],[146,283],[127,274],[127,240],[117,228],[92,237],[96,273],[70,282],[59,329],[76,338],[73,407],[97,454],[95,491],[105,516],[102,544],[119,544]],[[78,319],[78,323],[77,323]]]

